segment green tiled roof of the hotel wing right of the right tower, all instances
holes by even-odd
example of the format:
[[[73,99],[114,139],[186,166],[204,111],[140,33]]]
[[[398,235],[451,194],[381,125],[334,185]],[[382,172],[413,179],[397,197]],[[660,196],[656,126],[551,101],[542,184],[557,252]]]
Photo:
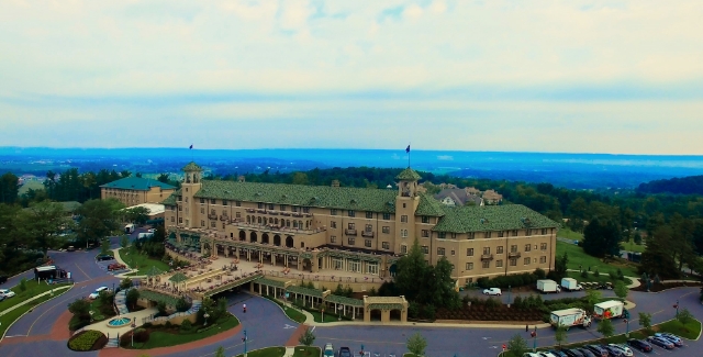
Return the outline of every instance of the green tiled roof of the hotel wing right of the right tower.
[[[445,215],[432,230],[467,233],[521,228],[550,228],[559,224],[522,205],[444,207]]]

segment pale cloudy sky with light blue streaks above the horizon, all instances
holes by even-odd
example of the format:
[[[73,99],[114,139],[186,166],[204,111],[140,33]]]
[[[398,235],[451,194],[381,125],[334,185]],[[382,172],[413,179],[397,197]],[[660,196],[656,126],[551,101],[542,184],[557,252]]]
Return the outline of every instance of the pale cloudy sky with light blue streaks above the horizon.
[[[18,1],[0,146],[703,155],[703,1]]]

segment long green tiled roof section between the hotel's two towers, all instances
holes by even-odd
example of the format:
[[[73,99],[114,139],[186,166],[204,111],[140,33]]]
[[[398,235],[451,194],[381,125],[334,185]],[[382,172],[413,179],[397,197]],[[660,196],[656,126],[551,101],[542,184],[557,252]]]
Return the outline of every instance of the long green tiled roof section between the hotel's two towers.
[[[386,189],[203,180],[196,197],[393,213],[395,194]]]

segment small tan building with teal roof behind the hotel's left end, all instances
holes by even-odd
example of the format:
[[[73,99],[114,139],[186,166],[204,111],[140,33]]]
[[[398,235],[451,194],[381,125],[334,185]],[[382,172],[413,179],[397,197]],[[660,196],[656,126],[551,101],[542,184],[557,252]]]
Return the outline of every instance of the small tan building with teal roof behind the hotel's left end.
[[[100,198],[113,198],[133,207],[143,203],[160,203],[176,188],[158,180],[142,177],[125,177],[110,183],[100,186]]]

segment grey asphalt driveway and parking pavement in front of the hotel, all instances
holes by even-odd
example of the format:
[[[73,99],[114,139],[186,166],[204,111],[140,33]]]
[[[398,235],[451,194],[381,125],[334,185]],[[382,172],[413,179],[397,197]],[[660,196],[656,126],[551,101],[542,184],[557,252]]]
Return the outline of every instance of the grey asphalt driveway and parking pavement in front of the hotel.
[[[66,347],[65,337],[57,339],[55,332],[65,331],[66,305],[68,302],[85,297],[94,288],[119,280],[101,270],[94,263],[93,253],[54,253],[57,265],[74,272],[77,285],[64,295],[37,306],[33,312],[21,317],[9,331],[5,339],[0,343],[0,356],[98,356],[98,353],[72,353]],[[71,268],[72,267],[72,268]],[[580,294],[578,292],[568,294]],[[556,297],[565,297],[561,293]],[[606,292],[606,295],[610,292]],[[548,295],[548,298],[553,298]],[[637,306],[632,310],[634,313],[631,321],[631,330],[638,327],[637,313],[652,313],[652,322],[659,323],[674,316],[672,305],[677,300],[681,308],[689,309],[695,316],[703,317],[703,306],[698,300],[699,288],[673,289],[660,293],[646,293],[631,291],[629,300]],[[267,346],[286,345],[289,341],[297,339],[300,326],[290,321],[282,313],[280,308],[263,298],[253,297],[247,293],[231,293],[226,297],[228,310],[242,321],[243,328],[247,331],[248,349],[256,349]],[[506,297],[503,295],[506,300]],[[247,313],[242,312],[242,303],[247,304]],[[57,320],[59,320],[57,322]],[[57,325],[54,326],[54,323]],[[62,324],[62,325],[58,325]],[[54,328],[54,330],[53,330]],[[325,343],[333,343],[335,347],[349,346],[354,352],[359,352],[361,345],[365,350],[380,356],[394,354],[402,356],[406,350],[405,342],[408,337],[416,332],[427,338],[427,355],[429,356],[486,356],[494,357],[500,352],[500,346],[515,334],[528,337],[524,327],[516,328],[451,328],[437,326],[316,326],[314,327],[315,345],[323,346]],[[625,324],[616,322],[618,333],[625,332]],[[568,341],[578,342],[600,337],[595,332],[595,326],[590,330],[572,328],[569,331]],[[54,334],[52,334],[54,332]],[[65,332],[64,332],[65,334]],[[52,337],[54,335],[54,337]],[[243,331],[235,336],[224,338],[209,346],[186,349],[169,356],[198,357],[213,355],[219,346],[224,346],[227,356],[242,354],[244,346],[242,342]],[[539,345],[554,344],[554,332],[551,328],[538,331],[537,338]],[[532,341],[529,341],[532,345]],[[658,347],[656,347],[658,348]],[[698,342],[692,342],[689,346],[674,352],[663,352],[657,349],[661,355],[683,356],[691,355],[691,350],[701,348]],[[136,356],[138,352],[122,350],[121,355]],[[152,354],[154,355],[154,354]]]

